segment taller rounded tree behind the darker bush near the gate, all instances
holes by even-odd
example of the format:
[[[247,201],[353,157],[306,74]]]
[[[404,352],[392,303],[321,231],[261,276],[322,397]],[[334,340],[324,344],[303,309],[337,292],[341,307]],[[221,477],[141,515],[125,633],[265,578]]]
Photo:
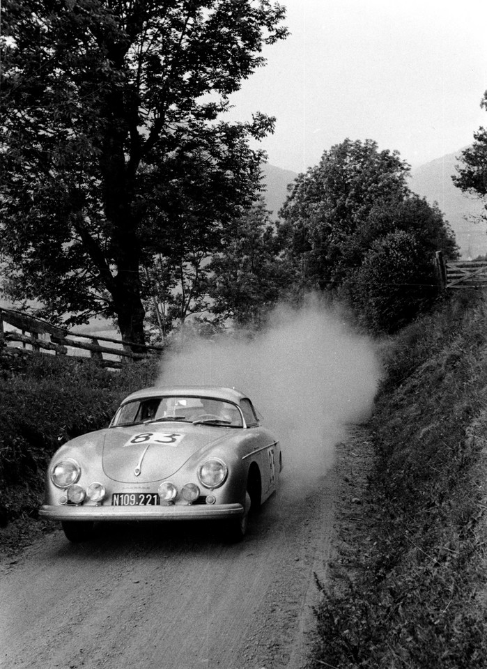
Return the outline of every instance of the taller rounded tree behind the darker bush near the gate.
[[[378,151],[370,139],[346,139],[298,176],[281,210],[280,233],[304,282],[321,289],[341,283],[360,260],[351,252],[357,234],[372,210],[403,200],[407,174],[396,151]]]

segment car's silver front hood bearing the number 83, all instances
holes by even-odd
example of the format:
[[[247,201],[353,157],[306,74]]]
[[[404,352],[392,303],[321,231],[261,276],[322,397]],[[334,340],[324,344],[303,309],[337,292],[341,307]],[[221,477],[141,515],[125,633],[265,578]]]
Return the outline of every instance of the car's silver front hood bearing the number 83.
[[[118,482],[160,481],[226,436],[226,429],[222,435],[222,428],[176,422],[111,428],[103,445],[103,471]]]

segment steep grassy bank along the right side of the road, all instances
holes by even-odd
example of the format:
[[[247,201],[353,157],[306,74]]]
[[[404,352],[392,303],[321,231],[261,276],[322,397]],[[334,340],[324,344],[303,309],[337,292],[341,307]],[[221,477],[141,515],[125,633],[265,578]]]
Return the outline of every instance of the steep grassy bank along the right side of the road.
[[[320,586],[320,643],[311,666],[481,669],[486,301],[462,296],[410,326],[385,365],[367,426],[372,468],[364,508],[330,565],[330,587]]]

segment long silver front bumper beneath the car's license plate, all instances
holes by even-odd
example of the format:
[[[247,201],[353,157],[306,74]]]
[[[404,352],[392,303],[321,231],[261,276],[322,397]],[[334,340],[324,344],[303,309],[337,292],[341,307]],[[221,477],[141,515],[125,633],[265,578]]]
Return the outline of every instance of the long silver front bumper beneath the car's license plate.
[[[210,521],[242,516],[241,504],[164,506],[42,505],[39,515],[51,521]]]

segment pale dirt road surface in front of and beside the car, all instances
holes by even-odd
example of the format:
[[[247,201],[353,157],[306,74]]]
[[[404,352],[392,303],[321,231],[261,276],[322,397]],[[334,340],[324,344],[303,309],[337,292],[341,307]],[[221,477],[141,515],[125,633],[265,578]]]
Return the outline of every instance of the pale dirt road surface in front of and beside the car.
[[[300,669],[314,572],[330,551],[335,475],[283,477],[241,544],[192,525],[47,535],[0,566],[5,669]]]

